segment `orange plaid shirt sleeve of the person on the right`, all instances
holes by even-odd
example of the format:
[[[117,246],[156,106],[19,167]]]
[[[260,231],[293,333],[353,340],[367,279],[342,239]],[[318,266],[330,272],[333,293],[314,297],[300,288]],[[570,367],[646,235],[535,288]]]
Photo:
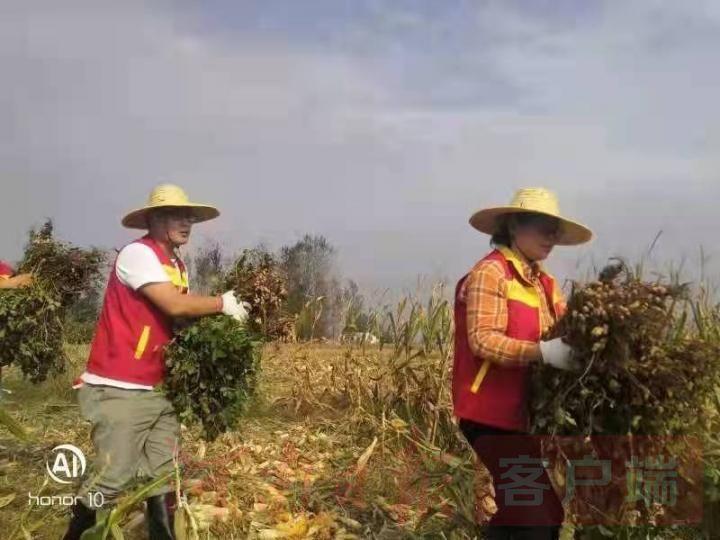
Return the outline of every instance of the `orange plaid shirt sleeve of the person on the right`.
[[[467,332],[475,356],[504,365],[527,365],[537,359],[537,344],[505,335],[508,322],[507,283],[502,265],[482,261],[463,284]]]

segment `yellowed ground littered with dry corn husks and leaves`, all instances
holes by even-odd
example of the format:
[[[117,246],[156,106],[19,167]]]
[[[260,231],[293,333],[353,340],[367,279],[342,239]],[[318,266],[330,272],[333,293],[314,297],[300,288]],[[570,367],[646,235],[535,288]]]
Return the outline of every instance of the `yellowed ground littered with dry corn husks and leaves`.
[[[54,446],[74,444],[92,456],[89,426],[71,389],[87,347],[69,352],[68,372],[39,386],[12,369],[3,374],[12,392],[4,405],[33,441],[21,443],[0,431],[2,538],[58,538],[67,509],[31,506],[28,494],[72,493],[69,486],[46,482],[45,460]],[[469,452],[433,458],[410,442],[404,422],[390,416],[380,419],[373,444],[374,413],[352,403],[349,387],[381,376],[383,357],[377,348],[363,353],[333,345],[268,345],[260,395],[237,430],[207,444],[183,431],[180,461],[194,515],[201,527],[203,515],[225,521],[200,537],[409,538],[413,530],[428,538],[475,536],[469,521],[453,515],[456,502],[448,491],[459,477],[471,484]],[[124,520],[125,538],[145,537],[140,510]]]

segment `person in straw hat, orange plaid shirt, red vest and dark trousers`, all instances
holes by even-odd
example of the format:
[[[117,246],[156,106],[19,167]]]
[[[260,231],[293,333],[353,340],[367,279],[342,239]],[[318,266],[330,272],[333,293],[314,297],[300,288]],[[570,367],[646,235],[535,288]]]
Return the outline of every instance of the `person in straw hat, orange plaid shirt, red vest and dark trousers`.
[[[473,214],[470,224],[491,235],[494,247],[455,291],[454,413],[493,476],[493,486],[478,493],[479,518],[496,510],[487,496],[497,494],[488,538],[557,538],[563,510],[544,469],[539,468],[535,480],[544,486],[539,490],[544,492],[542,503],[514,505],[513,494],[501,484],[508,471],[501,462],[521,455],[540,457],[535,440],[523,436],[528,431],[530,365],[576,367],[562,339],[541,341],[563,315],[565,303],[540,263],[556,245],[582,244],[592,233],[562,217],[555,195],[543,188],[521,189],[509,205]]]

